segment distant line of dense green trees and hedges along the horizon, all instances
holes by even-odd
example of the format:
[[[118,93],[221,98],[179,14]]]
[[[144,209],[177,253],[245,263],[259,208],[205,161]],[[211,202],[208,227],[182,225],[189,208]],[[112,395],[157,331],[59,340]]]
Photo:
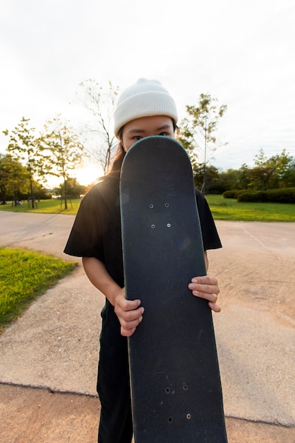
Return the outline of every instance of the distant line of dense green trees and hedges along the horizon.
[[[204,163],[194,165],[195,186],[201,189],[204,183]],[[281,154],[267,159],[263,151],[255,156],[255,166],[252,168],[245,163],[239,169],[220,171],[213,165],[206,168],[206,192],[237,197],[239,190],[265,191],[295,188],[295,159],[285,150]],[[53,191],[56,195],[68,195],[78,198],[85,194],[87,187],[80,185],[76,178],[68,177],[66,188],[64,183]],[[241,193],[241,192],[240,192]],[[6,201],[27,200],[30,196],[35,199],[51,198],[47,188],[30,176],[28,167],[13,159],[10,154],[0,154],[0,199],[1,205]]]

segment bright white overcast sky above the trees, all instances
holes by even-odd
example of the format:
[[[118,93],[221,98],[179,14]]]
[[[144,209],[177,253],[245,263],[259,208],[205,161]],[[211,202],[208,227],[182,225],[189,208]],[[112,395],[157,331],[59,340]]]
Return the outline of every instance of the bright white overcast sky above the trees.
[[[0,0],[0,8],[0,153],[2,131],[23,116],[42,130],[60,113],[79,132],[81,81],[123,91],[145,77],[168,89],[180,120],[200,93],[227,105],[222,145],[208,153],[217,168],[253,166],[260,149],[295,156],[294,0]],[[92,161],[78,178],[97,175]]]

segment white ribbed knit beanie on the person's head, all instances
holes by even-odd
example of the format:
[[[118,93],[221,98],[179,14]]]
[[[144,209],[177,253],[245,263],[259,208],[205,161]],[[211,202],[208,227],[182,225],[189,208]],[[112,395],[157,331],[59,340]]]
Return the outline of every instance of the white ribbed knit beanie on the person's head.
[[[121,127],[140,117],[167,115],[177,122],[177,110],[167,89],[157,80],[139,79],[121,93],[114,112],[114,134],[119,138]]]

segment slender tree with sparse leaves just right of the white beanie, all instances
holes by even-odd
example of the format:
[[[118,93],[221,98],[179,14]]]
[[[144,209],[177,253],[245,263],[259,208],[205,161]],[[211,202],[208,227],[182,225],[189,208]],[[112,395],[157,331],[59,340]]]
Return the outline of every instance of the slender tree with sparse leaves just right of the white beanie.
[[[198,151],[203,151],[203,184],[201,190],[205,193],[206,188],[206,168],[207,168],[207,150],[216,149],[217,139],[215,132],[219,118],[227,110],[227,105],[217,107],[217,98],[210,94],[200,94],[198,106],[186,105],[185,117],[181,121],[179,140],[188,151],[193,167],[198,163]]]

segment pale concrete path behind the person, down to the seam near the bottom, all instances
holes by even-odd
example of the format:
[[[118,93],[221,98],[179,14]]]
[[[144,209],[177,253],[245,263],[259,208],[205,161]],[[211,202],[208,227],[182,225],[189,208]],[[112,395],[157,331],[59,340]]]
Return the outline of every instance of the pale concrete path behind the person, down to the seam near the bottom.
[[[79,260],[62,252],[73,219],[0,212],[0,246]],[[295,224],[217,222],[217,228],[224,248],[210,251],[210,272],[223,294],[214,321],[225,413],[294,426],[294,308],[272,309],[267,291],[276,284],[281,292],[282,284],[286,293],[294,290]],[[276,275],[279,263],[284,275]],[[0,336],[0,383],[95,395],[103,304],[81,266],[49,289]]]

